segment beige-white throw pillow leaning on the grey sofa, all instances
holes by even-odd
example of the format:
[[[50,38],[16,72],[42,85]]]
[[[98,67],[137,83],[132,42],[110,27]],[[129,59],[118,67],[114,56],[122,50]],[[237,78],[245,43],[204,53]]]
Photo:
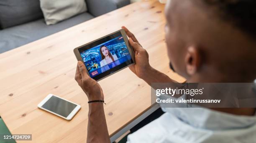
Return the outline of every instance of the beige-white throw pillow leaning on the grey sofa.
[[[47,25],[54,25],[87,11],[84,0],[40,0],[40,7]]]

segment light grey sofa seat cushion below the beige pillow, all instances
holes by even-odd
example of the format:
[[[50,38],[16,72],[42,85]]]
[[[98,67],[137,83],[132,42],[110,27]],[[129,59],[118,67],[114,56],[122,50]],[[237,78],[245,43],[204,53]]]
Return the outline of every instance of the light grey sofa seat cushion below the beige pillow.
[[[67,29],[84,21],[94,18],[87,12],[59,22],[56,25],[47,26],[44,19],[29,22],[23,25],[0,30],[0,53],[20,47],[42,37]]]

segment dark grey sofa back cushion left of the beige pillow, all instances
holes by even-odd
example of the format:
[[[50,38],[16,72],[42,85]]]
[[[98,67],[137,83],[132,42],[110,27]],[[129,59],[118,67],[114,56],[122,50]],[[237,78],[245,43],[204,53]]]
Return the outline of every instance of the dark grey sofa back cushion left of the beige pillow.
[[[39,0],[0,0],[2,29],[43,18]]]

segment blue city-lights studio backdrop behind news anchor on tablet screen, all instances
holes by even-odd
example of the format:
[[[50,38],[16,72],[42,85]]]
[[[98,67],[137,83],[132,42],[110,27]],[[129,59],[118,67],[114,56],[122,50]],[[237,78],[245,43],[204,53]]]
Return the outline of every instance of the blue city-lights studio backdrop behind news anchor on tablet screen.
[[[93,72],[96,69],[100,68],[100,61],[102,60],[100,55],[100,46],[102,45],[107,46],[110,53],[112,55],[115,54],[118,57],[118,60],[120,60],[120,63],[126,62],[128,59],[131,59],[130,53],[128,51],[128,48],[125,45],[123,37],[119,39],[120,37],[111,39],[108,42],[102,43],[97,47],[93,47],[81,53],[81,57],[89,72]],[[128,56],[128,57],[122,58],[125,56]]]

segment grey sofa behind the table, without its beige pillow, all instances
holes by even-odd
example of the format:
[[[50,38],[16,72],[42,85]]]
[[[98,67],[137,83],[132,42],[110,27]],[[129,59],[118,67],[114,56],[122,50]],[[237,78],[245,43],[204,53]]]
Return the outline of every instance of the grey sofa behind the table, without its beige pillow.
[[[28,3],[26,5],[24,4],[24,2],[26,3],[29,1],[29,5],[27,5]],[[1,0],[0,53],[20,47],[29,42],[41,39],[130,4],[130,0],[85,1],[87,4],[87,12],[71,17],[68,20],[64,20],[55,25],[47,26],[44,22],[44,16],[40,9],[39,0]],[[9,7],[12,7],[12,9],[6,14],[4,10],[8,11]]]

